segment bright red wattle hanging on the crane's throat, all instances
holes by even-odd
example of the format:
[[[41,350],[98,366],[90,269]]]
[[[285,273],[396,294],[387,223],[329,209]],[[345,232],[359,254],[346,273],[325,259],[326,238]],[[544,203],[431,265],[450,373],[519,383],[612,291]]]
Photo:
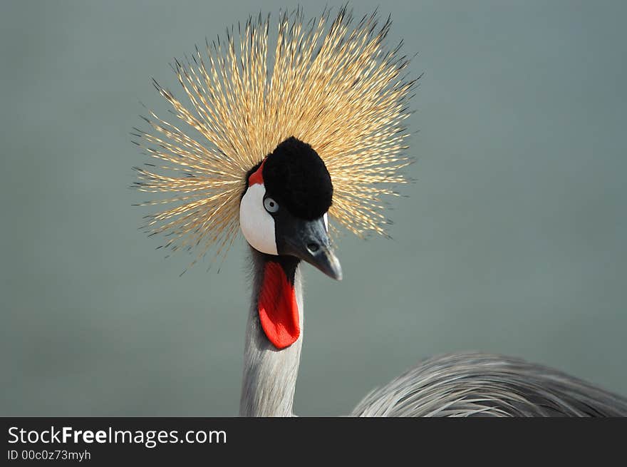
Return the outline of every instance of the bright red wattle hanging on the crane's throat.
[[[294,285],[278,262],[266,262],[257,309],[261,327],[274,347],[284,349],[296,342],[301,334],[299,305]]]

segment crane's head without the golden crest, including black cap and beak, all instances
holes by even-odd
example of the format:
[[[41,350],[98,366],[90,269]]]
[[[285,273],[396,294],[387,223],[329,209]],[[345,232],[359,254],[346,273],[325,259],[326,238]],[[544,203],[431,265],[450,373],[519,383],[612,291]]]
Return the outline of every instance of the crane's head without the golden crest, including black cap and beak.
[[[246,176],[239,226],[249,245],[267,255],[289,255],[342,279],[328,239],[333,183],[311,145],[287,138]]]

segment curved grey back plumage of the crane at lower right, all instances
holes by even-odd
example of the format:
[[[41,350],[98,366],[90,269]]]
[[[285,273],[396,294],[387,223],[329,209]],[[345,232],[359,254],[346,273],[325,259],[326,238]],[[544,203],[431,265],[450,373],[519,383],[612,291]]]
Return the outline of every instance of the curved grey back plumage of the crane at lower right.
[[[437,356],[366,396],[352,416],[627,416],[627,399],[509,356]]]

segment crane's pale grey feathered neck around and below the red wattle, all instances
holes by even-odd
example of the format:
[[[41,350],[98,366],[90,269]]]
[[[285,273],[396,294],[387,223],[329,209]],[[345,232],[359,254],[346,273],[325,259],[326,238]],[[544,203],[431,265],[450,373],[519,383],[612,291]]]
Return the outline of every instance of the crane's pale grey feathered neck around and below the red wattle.
[[[294,390],[303,342],[303,284],[296,267],[294,290],[299,305],[299,338],[278,350],[269,342],[259,323],[257,297],[263,281],[264,255],[251,248],[252,300],[246,329],[244,375],[239,416],[293,416]]]

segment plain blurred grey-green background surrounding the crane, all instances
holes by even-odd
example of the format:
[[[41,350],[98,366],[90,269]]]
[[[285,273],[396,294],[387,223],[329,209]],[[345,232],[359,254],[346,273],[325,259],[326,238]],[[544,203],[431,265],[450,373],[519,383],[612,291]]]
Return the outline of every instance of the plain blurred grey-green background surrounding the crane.
[[[307,2],[307,16],[326,2]],[[366,14],[378,1],[355,2]],[[265,1],[274,19],[284,2]],[[395,240],[306,267],[296,413],[347,413],[418,359],[522,356],[627,393],[626,3],[403,1],[425,72]],[[222,272],[136,227],[155,76],[257,1],[3,1],[0,415],[237,414],[244,245]],[[276,22],[273,23],[276,25]]]

